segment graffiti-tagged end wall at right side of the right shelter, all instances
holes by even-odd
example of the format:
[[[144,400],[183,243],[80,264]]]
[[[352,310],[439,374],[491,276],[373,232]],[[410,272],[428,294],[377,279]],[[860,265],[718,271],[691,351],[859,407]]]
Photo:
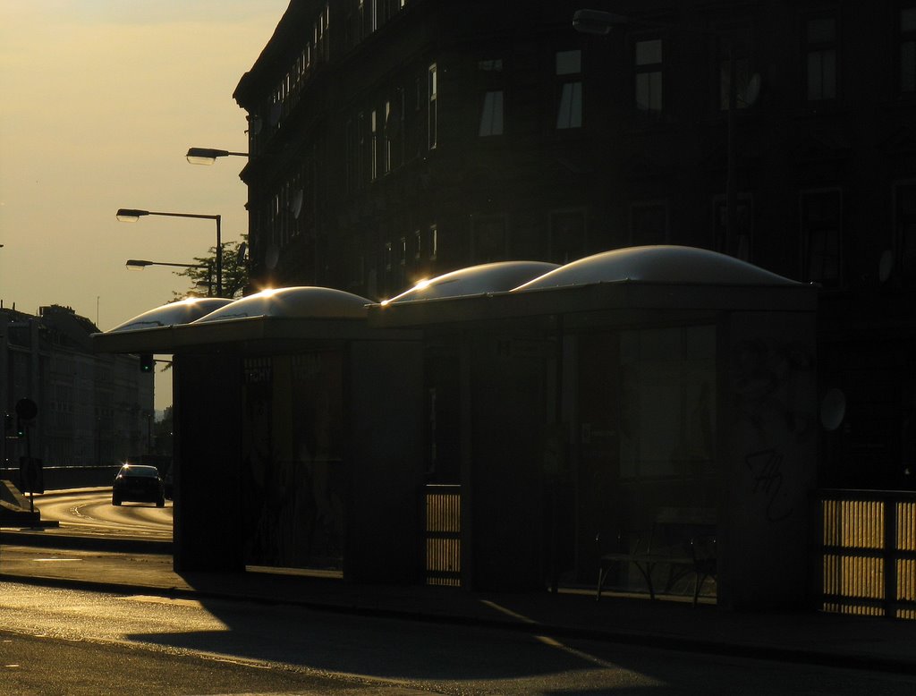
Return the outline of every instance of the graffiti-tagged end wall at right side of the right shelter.
[[[812,314],[735,312],[719,352],[718,601],[802,607],[819,427]]]

